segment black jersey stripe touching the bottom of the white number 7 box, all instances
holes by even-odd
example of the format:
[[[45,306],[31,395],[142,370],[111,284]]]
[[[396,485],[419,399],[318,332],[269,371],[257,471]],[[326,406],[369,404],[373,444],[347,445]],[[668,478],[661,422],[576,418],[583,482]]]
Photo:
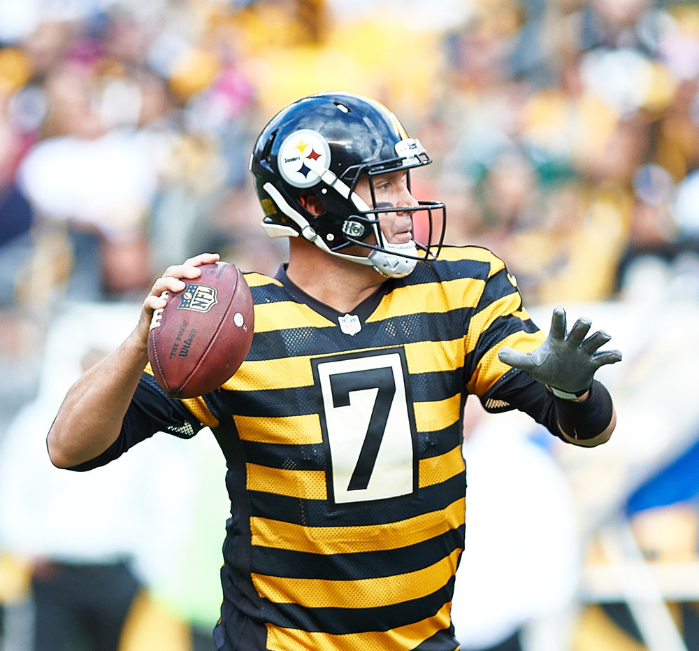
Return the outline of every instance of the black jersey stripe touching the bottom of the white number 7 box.
[[[400,522],[424,513],[442,510],[466,494],[466,473],[461,472],[445,482],[421,487],[419,497],[412,494],[404,498],[366,503],[352,503],[343,508],[329,510],[329,503],[322,499],[299,499],[267,492],[248,491],[250,515],[289,522],[303,527],[355,527],[357,524],[372,527],[387,522]]]

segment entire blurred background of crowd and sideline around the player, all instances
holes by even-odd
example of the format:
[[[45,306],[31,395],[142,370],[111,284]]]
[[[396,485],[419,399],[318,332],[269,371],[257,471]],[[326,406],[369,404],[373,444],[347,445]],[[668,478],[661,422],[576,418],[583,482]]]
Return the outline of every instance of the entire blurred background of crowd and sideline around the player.
[[[213,651],[212,437],[73,475],[45,434],[168,264],[275,273],[254,138],[340,89],[424,143],[449,243],[624,353],[601,448],[469,402],[462,648],[699,649],[696,3],[0,0],[0,651]]]

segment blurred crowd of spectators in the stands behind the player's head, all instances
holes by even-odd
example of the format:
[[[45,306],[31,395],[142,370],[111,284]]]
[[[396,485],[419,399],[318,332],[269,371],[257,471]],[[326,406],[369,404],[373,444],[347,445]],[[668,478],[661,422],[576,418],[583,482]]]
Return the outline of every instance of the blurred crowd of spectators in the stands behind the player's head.
[[[66,306],[205,250],[276,271],[254,138],[340,89],[420,138],[414,194],[528,305],[699,304],[693,1],[0,0],[0,443]]]

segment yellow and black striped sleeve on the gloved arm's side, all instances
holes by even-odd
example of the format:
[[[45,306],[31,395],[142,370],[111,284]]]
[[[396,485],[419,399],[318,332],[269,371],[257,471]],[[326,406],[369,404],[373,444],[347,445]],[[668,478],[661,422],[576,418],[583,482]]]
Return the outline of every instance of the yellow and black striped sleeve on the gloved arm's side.
[[[481,399],[512,368],[498,359],[500,348],[531,352],[545,341],[545,334],[531,320],[517,280],[505,263],[487,252],[489,273],[466,324],[466,389]]]

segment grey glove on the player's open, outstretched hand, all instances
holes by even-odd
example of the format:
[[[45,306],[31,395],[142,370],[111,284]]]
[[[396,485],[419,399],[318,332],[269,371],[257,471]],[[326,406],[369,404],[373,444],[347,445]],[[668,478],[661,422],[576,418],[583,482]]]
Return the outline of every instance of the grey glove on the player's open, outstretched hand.
[[[598,348],[611,339],[605,331],[597,331],[585,338],[591,325],[589,319],[579,318],[566,336],[565,310],[556,308],[551,317],[549,336],[539,348],[529,353],[503,348],[498,357],[500,362],[526,371],[537,382],[571,394],[566,397],[582,395],[591,387],[600,366],[621,361],[619,350],[598,352]]]

